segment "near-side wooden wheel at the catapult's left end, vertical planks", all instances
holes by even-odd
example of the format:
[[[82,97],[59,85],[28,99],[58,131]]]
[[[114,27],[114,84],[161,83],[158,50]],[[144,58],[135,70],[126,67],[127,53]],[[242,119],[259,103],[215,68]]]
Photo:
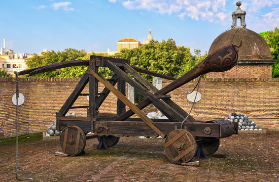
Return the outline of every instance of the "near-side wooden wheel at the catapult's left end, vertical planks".
[[[86,137],[83,130],[78,126],[68,126],[60,135],[60,146],[69,156],[79,155],[84,151]]]

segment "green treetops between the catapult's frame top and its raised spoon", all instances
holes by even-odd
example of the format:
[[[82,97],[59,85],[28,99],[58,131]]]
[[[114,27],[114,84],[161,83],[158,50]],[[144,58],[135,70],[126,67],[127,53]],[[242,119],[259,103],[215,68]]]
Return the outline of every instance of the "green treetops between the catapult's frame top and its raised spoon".
[[[138,49],[122,49],[120,53],[115,54],[115,57],[130,59],[133,66],[179,77],[202,59],[200,50],[197,50],[197,53],[199,55],[192,56],[190,48],[177,47],[175,40],[169,38],[162,42],[151,40]],[[143,74],[143,76],[149,81],[152,80],[150,75]]]

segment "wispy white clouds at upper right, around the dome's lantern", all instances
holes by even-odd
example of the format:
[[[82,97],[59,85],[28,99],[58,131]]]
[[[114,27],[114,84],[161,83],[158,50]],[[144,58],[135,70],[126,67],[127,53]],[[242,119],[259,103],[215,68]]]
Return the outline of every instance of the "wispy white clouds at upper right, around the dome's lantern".
[[[181,20],[189,17],[196,21],[202,20],[223,25],[231,24],[231,14],[236,10],[235,3],[238,1],[234,0],[231,4],[227,0],[109,0],[112,3],[121,3],[129,10],[146,10],[175,15]],[[235,7],[233,11],[231,11],[231,6]],[[260,29],[273,29],[274,26],[279,26],[278,6],[278,0],[246,0],[242,2],[240,8],[247,12],[247,28],[262,31]]]

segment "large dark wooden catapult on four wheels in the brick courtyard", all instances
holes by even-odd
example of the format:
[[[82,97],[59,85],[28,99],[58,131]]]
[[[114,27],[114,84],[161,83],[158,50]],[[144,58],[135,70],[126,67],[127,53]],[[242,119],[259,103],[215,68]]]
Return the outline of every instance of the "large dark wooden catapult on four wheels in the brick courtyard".
[[[160,135],[165,138],[164,150],[168,159],[181,164],[190,161],[200,151],[204,155],[215,153],[219,148],[220,138],[237,134],[238,126],[237,123],[227,120],[197,121],[173,102],[170,99],[171,96],[167,94],[202,74],[231,69],[236,65],[237,59],[238,46],[231,44],[208,55],[193,69],[177,79],[131,66],[128,59],[101,56],[91,56],[90,60],[67,61],[23,70],[18,75],[34,75],[71,66],[88,66],[73,93],[56,113],[56,129],[62,131],[60,145],[66,154],[75,156],[82,153],[86,140],[90,138],[98,138],[99,147],[108,148],[116,145],[120,136]],[[100,66],[108,67],[114,75],[110,79],[103,78],[98,74]],[[141,83],[132,79],[127,72]],[[138,72],[174,81],[158,90]],[[100,93],[98,82],[105,86]],[[146,100],[137,105],[131,103],[125,97],[125,82],[141,92]],[[82,91],[88,83],[89,93],[83,94]],[[117,88],[114,86],[116,83]],[[117,113],[98,112],[98,108],[110,92],[118,98]],[[79,96],[89,96],[89,105],[73,107]],[[153,104],[168,119],[147,117],[142,109],[150,104]],[[126,106],[129,107],[128,111],[125,109]],[[73,108],[88,108],[87,117],[65,117],[69,109]],[[136,114],[138,118],[131,117],[133,114]],[[94,135],[86,135],[88,132]]]

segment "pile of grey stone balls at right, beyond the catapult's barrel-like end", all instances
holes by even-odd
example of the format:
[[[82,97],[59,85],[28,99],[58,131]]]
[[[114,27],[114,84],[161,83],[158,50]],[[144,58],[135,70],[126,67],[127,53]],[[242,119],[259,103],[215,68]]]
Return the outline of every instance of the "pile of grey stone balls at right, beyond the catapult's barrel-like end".
[[[252,121],[252,119],[248,118],[247,115],[242,113],[233,112],[228,116],[228,118],[226,118],[226,120],[238,122],[238,130],[262,130],[260,126],[256,125],[256,123]]]

